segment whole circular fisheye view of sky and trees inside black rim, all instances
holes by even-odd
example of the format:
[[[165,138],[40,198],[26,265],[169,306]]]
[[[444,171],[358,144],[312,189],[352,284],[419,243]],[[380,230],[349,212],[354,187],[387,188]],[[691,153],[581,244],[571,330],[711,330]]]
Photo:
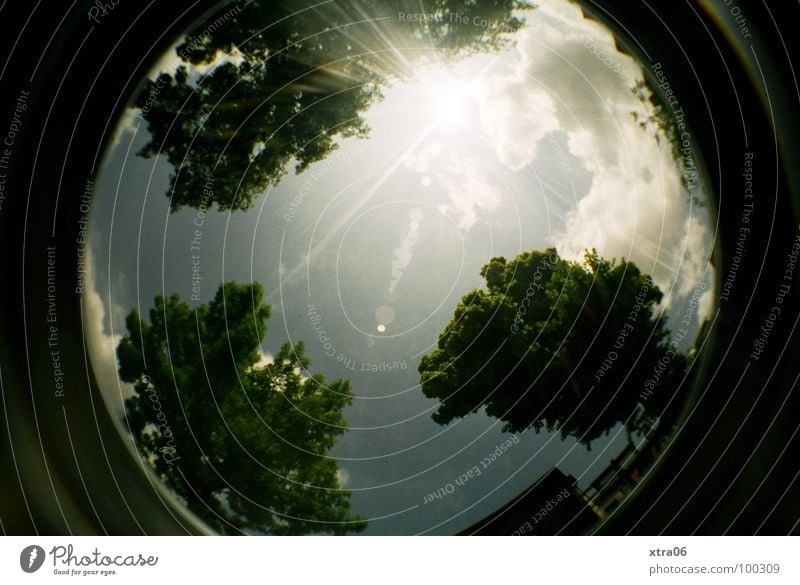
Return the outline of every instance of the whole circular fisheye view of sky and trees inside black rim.
[[[222,534],[612,514],[719,298],[691,120],[641,59],[567,0],[186,30],[86,185],[89,357],[143,468]]]

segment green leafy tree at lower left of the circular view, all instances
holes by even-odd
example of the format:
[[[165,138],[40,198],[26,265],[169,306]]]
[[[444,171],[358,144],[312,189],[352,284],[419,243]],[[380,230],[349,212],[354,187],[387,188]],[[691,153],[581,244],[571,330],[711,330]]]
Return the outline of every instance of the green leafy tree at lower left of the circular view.
[[[195,309],[156,297],[149,324],[130,313],[117,356],[136,391],[125,403],[136,444],[223,533],[363,530],[327,457],[346,429],[349,383],[307,377],[302,343],[260,361],[270,315],[262,296],[257,283],[227,283]]]

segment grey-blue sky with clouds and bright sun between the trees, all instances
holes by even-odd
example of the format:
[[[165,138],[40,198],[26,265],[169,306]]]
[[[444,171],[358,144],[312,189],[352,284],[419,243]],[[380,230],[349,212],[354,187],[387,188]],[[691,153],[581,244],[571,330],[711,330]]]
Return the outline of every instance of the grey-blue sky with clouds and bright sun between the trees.
[[[303,340],[311,372],[350,380],[350,431],[331,455],[367,534],[456,532],[555,465],[586,487],[625,446],[623,429],[591,451],[529,431],[486,473],[425,503],[509,438],[482,413],[432,422],[437,403],[417,375],[490,258],[556,246],[580,260],[597,248],[653,275],[670,322],[695,291],[694,326],[712,309],[709,211],[701,191],[682,186],[663,139],[632,115],[648,114],[630,91],[642,66],[575,5],[537,5],[515,46],[391,87],[365,116],[367,139],[340,140],[246,213],[171,214],[171,168],[135,155],[148,136],[129,110],[97,182],[85,299],[109,408],[120,413],[131,391],[114,358],[125,315],[146,313],[156,294],[188,301],[199,262],[190,305],[222,281],[259,281],[272,306],[265,359]]]

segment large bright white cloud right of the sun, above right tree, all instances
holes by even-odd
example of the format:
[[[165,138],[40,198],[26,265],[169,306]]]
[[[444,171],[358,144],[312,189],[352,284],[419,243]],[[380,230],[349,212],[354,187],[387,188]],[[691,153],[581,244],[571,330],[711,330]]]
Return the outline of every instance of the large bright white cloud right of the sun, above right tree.
[[[640,65],[617,52],[610,31],[584,19],[577,5],[537,5],[510,72],[482,86],[487,141],[501,163],[521,170],[546,146],[548,132],[564,133],[593,179],[552,237],[562,256],[582,259],[597,248],[636,262],[667,296],[691,294],[707,266],[709,233],[668,144],[632,115],[649,111],[631,91],[643,78]]]

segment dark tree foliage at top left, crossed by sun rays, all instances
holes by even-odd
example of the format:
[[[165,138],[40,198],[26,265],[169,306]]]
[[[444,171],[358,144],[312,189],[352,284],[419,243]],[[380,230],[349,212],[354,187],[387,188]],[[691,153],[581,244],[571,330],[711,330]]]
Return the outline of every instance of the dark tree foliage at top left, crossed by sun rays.
[[[389,80],[434,54],[450,61],[505,46],[522,25],[515,11],[525,7],[518,0],[311,6],[235,2],[187,34],[174,73],[145,84],[136,105],[151,138],[139,154],[165,154],[175,169],[173,211],[248,209],[290,163],[301,172],[337,138],[366,136],[361,114]]]

